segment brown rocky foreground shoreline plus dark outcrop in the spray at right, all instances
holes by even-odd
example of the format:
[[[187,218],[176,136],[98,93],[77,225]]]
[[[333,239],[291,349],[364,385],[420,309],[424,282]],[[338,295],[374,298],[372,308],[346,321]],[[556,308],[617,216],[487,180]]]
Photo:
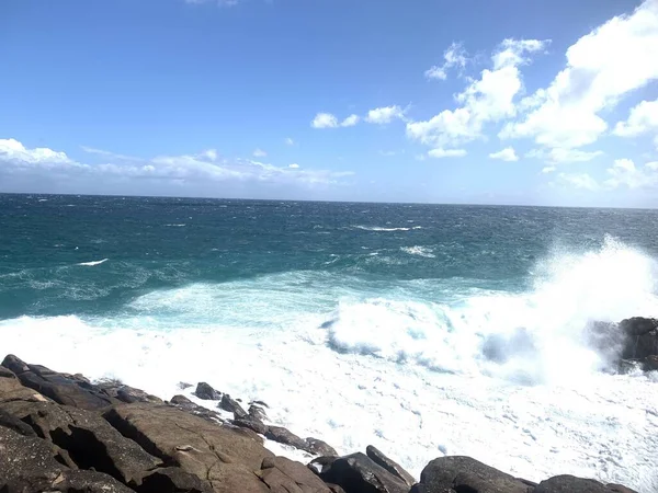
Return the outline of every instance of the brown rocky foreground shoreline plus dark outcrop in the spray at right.
[[[658,320],[595,323],[590,335],[619,355],[620,371],[658,369]],[[432,460],[417,479],[373,446],[340,457],[319,438],[269,424],[265,402],[242,403],[206,382],[194,394],[216,402],[217,411],[182,394],[162,401],[118,381],[91,382],[7,356],[0,492],[633,492],[571,475],[534,483],[460,456]],[[263,437],[314,458],[304,465],[276,457]]]

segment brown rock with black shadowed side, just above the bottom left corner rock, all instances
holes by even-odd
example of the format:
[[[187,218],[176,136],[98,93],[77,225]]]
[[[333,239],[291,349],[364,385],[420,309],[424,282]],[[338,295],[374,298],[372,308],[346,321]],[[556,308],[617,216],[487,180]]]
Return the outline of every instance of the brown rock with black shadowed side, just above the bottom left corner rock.
[[[91,411],[50,402],[13,401],[0,406],[65,449],[81,469],[93,468],[127,484],[162,465]]]

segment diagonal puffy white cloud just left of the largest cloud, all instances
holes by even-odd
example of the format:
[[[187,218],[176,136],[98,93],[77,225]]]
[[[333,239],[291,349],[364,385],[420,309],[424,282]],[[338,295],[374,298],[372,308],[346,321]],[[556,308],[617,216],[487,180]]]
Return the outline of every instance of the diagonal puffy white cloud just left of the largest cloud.
[[[424,122],[407,124],[407,136],[436,147],[458,146],[481,138],[486,124],[517,114],[514,98],[523,83],[519,66],[527,64],[529,54],[547,46],[548,41],[506,39],[491,57],[494,69],[485,69],[456,95],[456,110],[444,110]]]

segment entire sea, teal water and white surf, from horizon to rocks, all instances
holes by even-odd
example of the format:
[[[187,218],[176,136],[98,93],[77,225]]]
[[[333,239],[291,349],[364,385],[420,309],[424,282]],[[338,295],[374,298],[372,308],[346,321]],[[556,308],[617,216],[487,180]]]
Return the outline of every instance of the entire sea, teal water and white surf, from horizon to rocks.
[[[0,195],[0,353],[207,381],[416,475],[468,455],[654,493],[658,376],[588,328],[657,317],[657,260],[656,210]]]

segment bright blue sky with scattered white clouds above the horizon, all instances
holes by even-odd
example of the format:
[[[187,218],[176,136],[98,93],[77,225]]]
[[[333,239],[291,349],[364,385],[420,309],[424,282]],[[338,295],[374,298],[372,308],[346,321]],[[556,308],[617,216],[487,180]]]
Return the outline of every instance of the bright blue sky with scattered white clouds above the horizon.
[[[658,207],[658,0],[3,0],[0,192]]]

